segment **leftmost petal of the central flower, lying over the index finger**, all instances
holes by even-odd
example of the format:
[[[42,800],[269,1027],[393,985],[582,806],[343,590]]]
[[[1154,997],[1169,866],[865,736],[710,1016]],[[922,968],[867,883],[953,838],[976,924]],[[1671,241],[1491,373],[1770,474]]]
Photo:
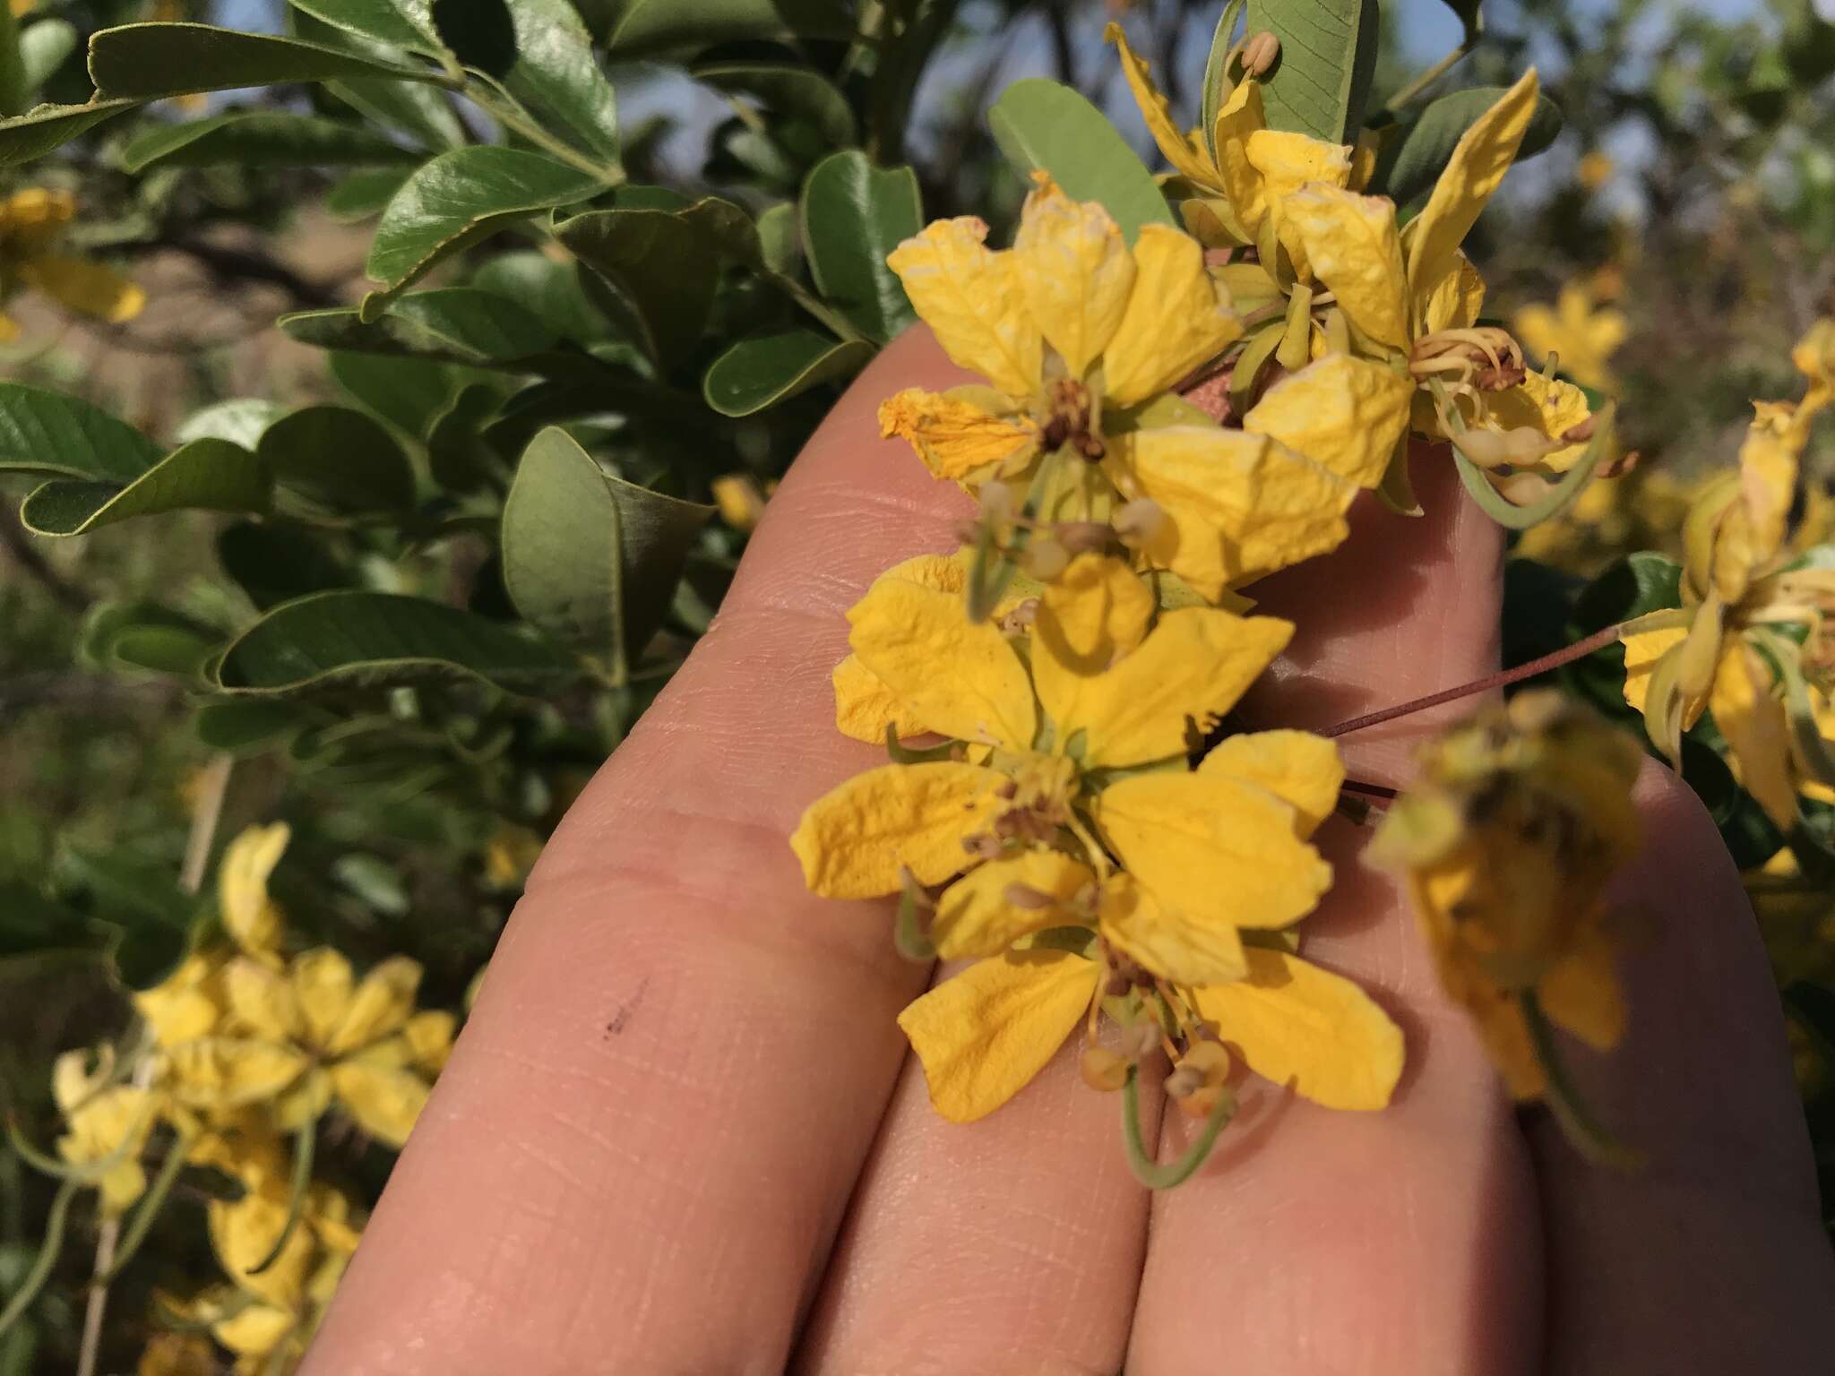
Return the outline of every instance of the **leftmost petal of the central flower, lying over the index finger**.
[[[899,866],[941,884],[969,864],[963,837],[998,811],[1004,774],[936,760],[881,765],[817,798],[791,837],[809,890],[870,899],[899,890]]]

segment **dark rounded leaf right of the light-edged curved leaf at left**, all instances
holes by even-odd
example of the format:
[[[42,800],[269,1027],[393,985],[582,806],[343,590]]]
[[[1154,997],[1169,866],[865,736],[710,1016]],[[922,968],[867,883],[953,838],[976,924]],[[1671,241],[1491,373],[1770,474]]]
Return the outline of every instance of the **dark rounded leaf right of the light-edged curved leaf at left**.
[[[292,411],[268,426],[257,453],[281,488],[330,512],[406,512],[415,503],[413,464],[395,437],[361,411]]]

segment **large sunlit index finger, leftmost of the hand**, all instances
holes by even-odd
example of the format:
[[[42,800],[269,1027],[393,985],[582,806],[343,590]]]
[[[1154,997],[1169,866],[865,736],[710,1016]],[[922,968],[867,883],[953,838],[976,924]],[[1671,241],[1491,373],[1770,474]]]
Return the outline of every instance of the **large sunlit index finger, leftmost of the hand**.
[[[963,510],[873,407],[958,376],[884,350],[773,497],[532,875],[310,1376],[782,1369],[925,980],[787,835],[877,761],[833,728],[844,609]]]

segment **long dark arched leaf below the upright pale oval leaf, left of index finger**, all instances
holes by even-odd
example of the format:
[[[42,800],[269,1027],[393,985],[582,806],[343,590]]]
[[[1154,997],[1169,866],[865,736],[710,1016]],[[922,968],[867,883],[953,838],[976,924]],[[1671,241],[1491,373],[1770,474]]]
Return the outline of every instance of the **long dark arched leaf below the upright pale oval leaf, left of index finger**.
[[[569,657],[484,616],[426,598],[350,591],[270,611],[224,649],[217,684],[240,695],[483,679],[534,692],[576,673]]]

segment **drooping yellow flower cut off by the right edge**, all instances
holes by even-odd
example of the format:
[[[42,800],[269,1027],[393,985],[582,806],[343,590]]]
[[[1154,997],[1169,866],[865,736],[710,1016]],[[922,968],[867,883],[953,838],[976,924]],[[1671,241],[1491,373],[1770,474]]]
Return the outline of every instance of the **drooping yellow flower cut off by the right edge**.
[[[1741,785],[1785,829],[1798,791],[1835,780],[1813,716],[1835,673],[1835,571],[1798,565],[1785,539],[1798,457],[1835,396],[1835,321],[1813,325],[1791,358],[1809,380],[1804,400],[1758,402],[1738,475],[1710,483],[1688,512],[1685,611],[1642,616],[1624,637],[1624,697],[1650,739],[1679,761],[1683,732],[1712,708]],[[1807,644],[1776,633],[1789,624]],[[1793,679],[1802,688],[1787,708]]]

